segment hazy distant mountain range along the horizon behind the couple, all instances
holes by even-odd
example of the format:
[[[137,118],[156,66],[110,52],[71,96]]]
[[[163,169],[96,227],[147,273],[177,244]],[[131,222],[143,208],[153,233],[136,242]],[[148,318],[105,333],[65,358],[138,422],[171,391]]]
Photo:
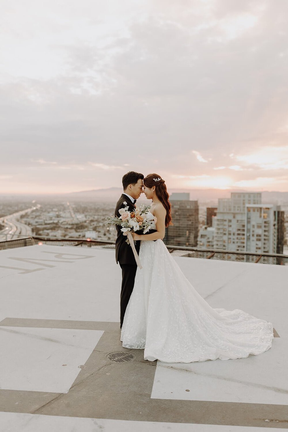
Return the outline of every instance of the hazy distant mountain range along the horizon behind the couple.
[[[122,194],[121,187],[108,187],[106,189],[92,189],[90,191],[70,192],[67,194],[0,194],[3,201],[25,201],[25,200],[73,200],[73,201],[96,201],[96,202],[115,202]],[[223,189],[169,189],[169,193],[188,192],[190,200],[198,200],[199,203],[215,203],[218,198],[229,198],[231,192],[250,192],[244,190],[223,190]],[[256,191],[260,192],[260,191]],[[288,204],[288,192],[261,191],[262,202],[271,204]],[[140,197],[139,201],[146,201],[145,196]]]

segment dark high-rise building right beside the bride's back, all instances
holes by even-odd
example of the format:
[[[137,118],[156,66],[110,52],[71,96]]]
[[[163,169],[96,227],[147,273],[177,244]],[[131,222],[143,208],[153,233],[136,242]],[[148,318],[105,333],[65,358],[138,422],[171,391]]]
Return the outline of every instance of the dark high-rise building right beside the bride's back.
[[[198,237],[198,201],[190,201],[190,194],[171,194],[173,225],[165,231],[166,245],[196,246]]]

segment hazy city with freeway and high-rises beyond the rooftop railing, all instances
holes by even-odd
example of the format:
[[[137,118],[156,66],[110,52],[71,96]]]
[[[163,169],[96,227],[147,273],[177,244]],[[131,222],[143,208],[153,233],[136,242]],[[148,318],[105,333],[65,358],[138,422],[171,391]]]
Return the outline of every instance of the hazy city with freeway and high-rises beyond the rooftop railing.
[[[189,193],[170,197],[173,226],[166,245],[243,253],[288,253],[288,205],[262,203],[260,192],[232,192],[218,204],[199,204]],[[113,243],[114,226],[105,218],[112,203],[6,202],[0,204],[0,241],[38,236]]]

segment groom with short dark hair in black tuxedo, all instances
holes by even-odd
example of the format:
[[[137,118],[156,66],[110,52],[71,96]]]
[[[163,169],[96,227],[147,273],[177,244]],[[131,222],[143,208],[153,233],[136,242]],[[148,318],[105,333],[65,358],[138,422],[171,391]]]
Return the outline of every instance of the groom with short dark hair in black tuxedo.
[[[116,204],[115,216],[119,217],[120,213],[118,210],[125,206],[128,206],[128,211],[130,212],[135,209],[136,200],[140,197],[143,191],[143,178],[143,174],[134,171],[129,171],[127,174],[123,175],[122,184],[124,192]],[[122,328],[125,311],[134,287],[137,264],[131,246],[126,243],[127,237],[123,235],[119,225],[116,225],[116,229],[116,262],[119,262],[122,270],[122,286],[120,294],[120,328]],[[135,248],[137,254],[139,254],[139,240],[136,241]]]

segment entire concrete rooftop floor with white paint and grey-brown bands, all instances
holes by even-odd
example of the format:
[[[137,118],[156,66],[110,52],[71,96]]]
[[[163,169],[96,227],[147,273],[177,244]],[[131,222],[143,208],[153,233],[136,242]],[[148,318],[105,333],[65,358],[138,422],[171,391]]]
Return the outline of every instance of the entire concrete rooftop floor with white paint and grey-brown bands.
[[[143,360],[120,343],[113,250],[0,251],[0,431],[261,432],[288,428],[288,267],[174,257],[214,308],[272,322],[247,359]],[[109,353],[133,355],[113,362]]]

